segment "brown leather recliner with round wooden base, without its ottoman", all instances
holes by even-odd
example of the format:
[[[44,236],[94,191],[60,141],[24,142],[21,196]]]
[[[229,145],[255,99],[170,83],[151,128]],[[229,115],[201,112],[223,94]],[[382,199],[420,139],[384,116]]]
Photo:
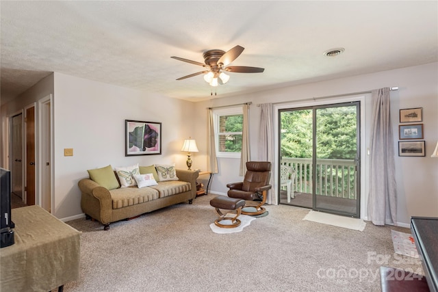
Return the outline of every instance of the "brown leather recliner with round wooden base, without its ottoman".
[[[269,161],[248,161],[246,162],[246,174],[244,181],[240,183],[229,183],[228,196],[231,198],[240,198],[247,201],[256,201],[246,204],[242,209],[242,214],[260,215],[266,212],[261,207],[266,202],[271,176],[271,163]]]

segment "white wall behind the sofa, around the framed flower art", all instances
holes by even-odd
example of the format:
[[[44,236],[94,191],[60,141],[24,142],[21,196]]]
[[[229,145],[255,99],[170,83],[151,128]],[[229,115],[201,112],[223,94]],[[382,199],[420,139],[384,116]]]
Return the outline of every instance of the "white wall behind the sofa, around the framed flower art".
[[[88,177],[88,169],[136,163],[186,168],[187,156],[180,150],[192,129],[188,101],[55,72],[54,110],[53,213],[59,218],[82,213],[77,183]],[[125,120],[162,122],[162,155],[125,157]],[[64,148],[73,148],[73,157],[64,157]]]

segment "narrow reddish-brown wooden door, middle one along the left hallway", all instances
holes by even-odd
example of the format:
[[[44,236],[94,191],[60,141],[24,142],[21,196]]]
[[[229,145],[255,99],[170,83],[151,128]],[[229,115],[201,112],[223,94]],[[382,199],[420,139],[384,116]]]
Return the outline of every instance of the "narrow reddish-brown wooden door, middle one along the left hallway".
[[[26,109],[26,203],[35,204],[35,107]]]

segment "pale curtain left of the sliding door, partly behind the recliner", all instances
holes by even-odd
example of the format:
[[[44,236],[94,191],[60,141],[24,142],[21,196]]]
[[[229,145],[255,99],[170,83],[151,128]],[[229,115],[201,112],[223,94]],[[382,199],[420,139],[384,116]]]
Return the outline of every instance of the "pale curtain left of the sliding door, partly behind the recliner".
[[[272,170],[275,170],[274,166],[274,123],[272,120],[272,103],[263,103],[260,105],[260,128],[259,128],[259,160],[270,161],[272,164]],[[271,172],[272,173],[272,172]],[[274,186],[274,176],[271,175],[270,185]],[[268,198],[266,200],[268,204],[279,204],[276,196],[276,189],[272,187],[268,191]]]

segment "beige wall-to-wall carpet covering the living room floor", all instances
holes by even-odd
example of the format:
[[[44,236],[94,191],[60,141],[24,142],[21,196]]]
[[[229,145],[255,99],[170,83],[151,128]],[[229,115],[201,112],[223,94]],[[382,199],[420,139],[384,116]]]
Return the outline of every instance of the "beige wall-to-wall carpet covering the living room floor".
[[[64,291],[381,291],[381,265],[421,271],[418,259],[394,256],[391,229],[407,228],[368,222],[357,232],[302,220],[309,209],[268,205],[268,216],[220,235],[209,228],[217,217],[211,198],[108,231],[68,222],[82,232],[81,278]]]

